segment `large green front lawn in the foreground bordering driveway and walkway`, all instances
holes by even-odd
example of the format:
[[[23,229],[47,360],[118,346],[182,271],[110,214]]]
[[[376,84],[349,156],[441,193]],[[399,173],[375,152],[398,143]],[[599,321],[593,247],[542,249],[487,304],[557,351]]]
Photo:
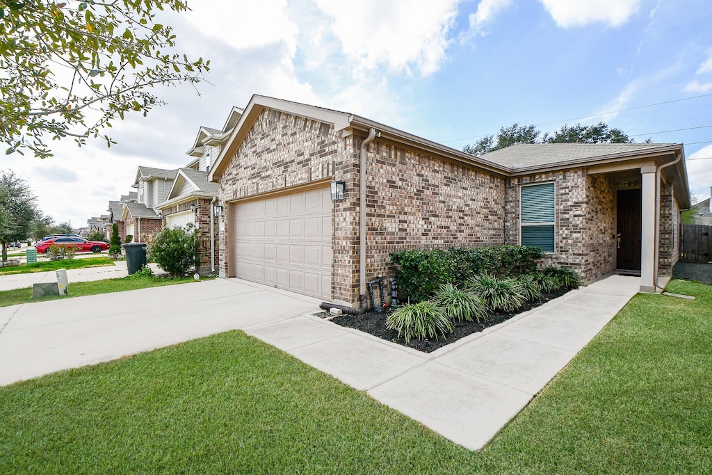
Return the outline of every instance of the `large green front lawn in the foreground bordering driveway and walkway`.
[[[669,291],[698,298],[634,297],[481,452],[230,332],[0,388],[0,473],[708,473],[712,286]]]

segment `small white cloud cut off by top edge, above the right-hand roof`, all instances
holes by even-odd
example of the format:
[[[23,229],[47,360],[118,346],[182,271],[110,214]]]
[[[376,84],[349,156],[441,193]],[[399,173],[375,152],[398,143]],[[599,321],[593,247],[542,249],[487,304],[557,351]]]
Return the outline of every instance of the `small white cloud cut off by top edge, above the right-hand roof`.
[[[641,0],[539,0],[561,28],[602,22],[621,26],[635,14]]]

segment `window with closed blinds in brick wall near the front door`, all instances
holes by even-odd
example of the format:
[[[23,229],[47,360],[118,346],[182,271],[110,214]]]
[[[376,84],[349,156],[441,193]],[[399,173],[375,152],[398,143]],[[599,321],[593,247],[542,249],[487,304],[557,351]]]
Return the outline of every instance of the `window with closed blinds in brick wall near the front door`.
[[[520,188],[520,236],[522,246],[555,251],[556,193],[553,183]]]

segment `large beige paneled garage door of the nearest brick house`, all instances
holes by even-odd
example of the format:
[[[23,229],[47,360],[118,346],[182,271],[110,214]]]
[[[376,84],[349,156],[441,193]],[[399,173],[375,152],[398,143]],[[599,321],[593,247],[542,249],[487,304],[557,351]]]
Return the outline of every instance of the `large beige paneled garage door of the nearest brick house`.
[[[331,298],[329,189],[234,204],[236,276]]]

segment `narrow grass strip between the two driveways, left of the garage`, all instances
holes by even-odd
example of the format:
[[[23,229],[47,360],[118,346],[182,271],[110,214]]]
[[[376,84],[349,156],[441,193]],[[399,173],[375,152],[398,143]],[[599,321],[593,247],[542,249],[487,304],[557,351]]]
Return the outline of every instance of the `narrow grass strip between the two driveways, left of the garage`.
[[[159,278],[147,276],[132,276],[123,278],[108,278],[103,281],[70,282],[69,296],[51,296],[32,298],[32,288],[16,288],[11,291],[0,291],[0,307],[19,305],[20,303],[42,302],[60,298],[94,296],[99,293],[135,291],[139,288],[172,286],[177,283],[195,282],[192,277]]]

